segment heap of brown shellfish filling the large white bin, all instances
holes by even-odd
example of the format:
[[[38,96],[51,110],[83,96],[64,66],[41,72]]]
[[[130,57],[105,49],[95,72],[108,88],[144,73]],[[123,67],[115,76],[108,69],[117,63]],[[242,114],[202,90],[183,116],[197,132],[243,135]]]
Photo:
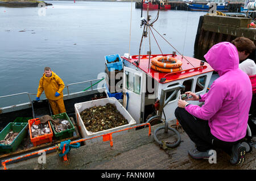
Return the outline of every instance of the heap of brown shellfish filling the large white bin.
[[[94,106],[80,113],[86,129],[90,132],[104,131],[128,124],[128,121],[117,110],[114,104]]]

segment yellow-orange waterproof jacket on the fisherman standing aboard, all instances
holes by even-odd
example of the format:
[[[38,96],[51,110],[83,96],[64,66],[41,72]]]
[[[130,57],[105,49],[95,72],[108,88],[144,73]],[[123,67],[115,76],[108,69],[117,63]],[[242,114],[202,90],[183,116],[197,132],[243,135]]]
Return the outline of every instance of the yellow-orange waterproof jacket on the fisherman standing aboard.
[[[46,77],[46,74],[44,73],[42,78],[39,81],[38,94],[36,96],[40,97],[40,95],[44,91],[47,99],[58,100],[60,98],[63,98],[64,87],[65,87],[64,82],[53,71],[52,71],[51,77]],[[56,92],[59,92],[60,94],[57,97],[55,96]]]

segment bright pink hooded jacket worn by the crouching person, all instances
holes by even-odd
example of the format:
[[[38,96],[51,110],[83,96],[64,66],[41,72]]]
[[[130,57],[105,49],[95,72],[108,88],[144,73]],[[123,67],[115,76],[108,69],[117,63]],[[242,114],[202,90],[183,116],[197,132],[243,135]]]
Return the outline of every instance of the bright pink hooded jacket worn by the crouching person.
[[[204,57],[220,77],[207,94],[201,95],[202,107],[190,104],[185,110],[209,120],[210,132],[219,140],[240,140],[246,135],[252,87],[248,75],[238,68],[237,49],[229,42],[222,42],[210,48]]]

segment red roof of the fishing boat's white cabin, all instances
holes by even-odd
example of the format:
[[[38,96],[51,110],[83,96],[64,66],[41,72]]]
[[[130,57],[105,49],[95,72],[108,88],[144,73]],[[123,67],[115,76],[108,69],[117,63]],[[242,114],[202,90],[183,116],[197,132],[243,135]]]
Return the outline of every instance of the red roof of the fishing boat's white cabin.
[[[150,60],[156,56],[168,56],[168,57],[174,57],[173,54],[151,54]],[[192,58],[192,57],[186,57],[176,55],[175,58],[181,60],[182,65],[181,71],[176,71],[174,73],[161,73],[160,71],[156,71],[154,69],[150,68],[150,64],[148,64],[148,55],[141,55],[139,65],[135,64],[134,61],[139,60],[139,56],[131,56],[131,59],[128,59],[126,57],[122,57],[125,60],[131,62],[133,65],[137,66],[139,69],[143,70],[146,74],[150,75],[150,77],[154,78],[159,83],[167,83],[171,81],[176,81],[178,79],[183,79],[187,77],[192,77],[198,74],[207,73],[209,71],[213,71],[212,67],[207,63],[204,62],[203,66],[200,66],[201,60]],[[149,65],[149,68],[148,68]],[[166,81],[160,82],[160,79],[166,78]],[[163,79],[162,79],[163,80]]]

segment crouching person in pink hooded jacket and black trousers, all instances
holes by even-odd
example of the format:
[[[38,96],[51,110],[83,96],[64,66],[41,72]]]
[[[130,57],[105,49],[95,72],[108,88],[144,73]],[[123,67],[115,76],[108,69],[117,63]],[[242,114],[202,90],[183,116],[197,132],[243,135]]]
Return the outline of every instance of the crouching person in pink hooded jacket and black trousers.
[[[195,159],[209,158],[211,149],[220,148],[231,156],[231,163],[242,163],[245,147],[240,142],[246,136],[252,98],[250,79],[238,68],[237,49],[229,42],[214,45],[204,57],[220,77],[204,95],[185,92],[193,97],[187,100],[199,100],[203,106],[180,99],[175,110],[177,120],[196,145],[188,154]]]

